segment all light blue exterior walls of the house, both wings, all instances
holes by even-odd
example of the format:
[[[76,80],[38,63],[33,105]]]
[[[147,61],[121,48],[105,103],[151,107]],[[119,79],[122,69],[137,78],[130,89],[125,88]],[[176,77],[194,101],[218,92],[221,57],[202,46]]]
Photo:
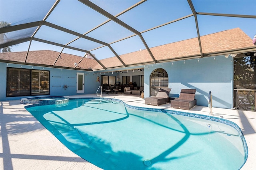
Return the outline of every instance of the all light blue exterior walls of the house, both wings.
[[[17,100],[23,97],[6,97],[6,70],[7,67],[13,68],[28,68],[32,69],[32,66],[20,65],[20,64],[7,64],[0,63],[0,100]],[[150,96],[150,74],[156,68],[163,68],[168,73],[168,86],[172,88],[170,97],[178,97],[182,88],[196,89],[197,105],[208,106],[208,94],[212,91],[212,106],[218,108],[232,108],[233,107],[233,59],[231,57],[225,58],[224,56],[207,57],[181,60],[174,62],[149,64],[144,66],[144,72],[137,72],[134,68],[134,73],[129,70],[128,73],[116,73],[112,70],[108,70],[109,76],[120,75],[133,76],[144,74],[144,98]],[[100,74],[94,74],[93,72],[80,71],[80,70],[67,70],[59,68],[47,68],[34,66],[36,70],[49,70],[50,71],[50,95],[63,95],[71,96],[78,94],[94,94],[100,86],[97,82],[97,76]],[[133,69],[133,68],[128,68]],[[138,69],[138,68],[137,68]],[[76,73],[84,73],[84,93],[76,93]],[[111,73],[111,74],[110,74]],[[56,78],[60,76],[60,78]],[[131,77],[132,78],[132,77]],[[63,85],[66,84],[68,88],[66,90]],[[56,87],[61,86],[61,87]]]

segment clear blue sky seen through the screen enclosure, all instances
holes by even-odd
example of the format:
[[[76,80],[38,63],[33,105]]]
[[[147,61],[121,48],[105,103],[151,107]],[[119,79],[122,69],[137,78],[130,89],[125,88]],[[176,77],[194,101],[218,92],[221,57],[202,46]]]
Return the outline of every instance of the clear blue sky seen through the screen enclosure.
[[[9,22],[11,25],[40,21],[44,19],[54,2],[52,0],[0,0],[0,20]],[[93,0],[92,2],[109,14],[117,16],[120,12],[139,1]],[[253,38],[256,34],[255,0],[192,0],[192,3],[196,12],[254,16],[254,18],[239,18],[197,15],[200,36],[238,27],[250,38]],[[146,44],[151,48],[196,38],[197,30],[194,16],[146,31],[190,14],[192,14],[192,11],[187,0],[148,0],[117,16],[117,18],[136,31],[141,32]],[[47,22],[80,34],[86,33],[86,36],[110,44],[118,55],[146,48],[138,35],[114,21],[107,22],[92,30],[108,20],[106,16],[99,14],[77,0],[60,0],[50,16],[46,18]],[[32,36],[35,30],[36,27],[19,30],[6,33],[6,36],[9,41],[26,38]],[[99,60],[115,56],[108,47],[99,48],[103,46],[102,44],[84,38],[79,38],[72,42],[77,36],[48,26],[41,26],[34,37],[59,44],[68,44],[68,46],[88,51],[92,50],[92,54]],[[121,39],[124,40],[118,41]],[[27,51],[29,44],[30,42],[24,42],[11,48],[15,52]],[[32,41],[30,50],[54,50],[60,52],[62,47]],[[85,54],[85,52],[68,48],[64,48],[63,52],[78,56],[84,56]]]

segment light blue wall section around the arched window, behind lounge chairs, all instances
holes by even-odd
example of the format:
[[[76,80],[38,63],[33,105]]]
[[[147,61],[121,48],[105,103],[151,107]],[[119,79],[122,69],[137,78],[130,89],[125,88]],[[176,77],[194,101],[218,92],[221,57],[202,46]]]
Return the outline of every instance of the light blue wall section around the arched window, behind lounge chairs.
[[[196,89],[197,105],[208,106],[212,91],[212,106],[233,107],[233,59],[224,56],[207,57],[147,65],[144,69],[144,97],[150,96],[150,74],[156,68],[168,73],[170,97],[178,97],[182,88]]]

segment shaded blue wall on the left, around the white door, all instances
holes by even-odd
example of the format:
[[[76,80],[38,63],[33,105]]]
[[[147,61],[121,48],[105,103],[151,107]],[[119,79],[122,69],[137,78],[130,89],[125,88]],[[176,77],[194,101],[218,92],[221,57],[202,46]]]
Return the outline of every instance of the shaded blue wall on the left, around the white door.
[[[100,86],[97,81],[97,76],[100,75],[93,74],[93,72],[80,71],[80,70],[68,70],[60,68],[48,68],[41,66],[28,66],[20,64],[8,64],[0,63],[0,101],[6,100],[18,100],[24,98],[24,96],[18,97],[6,97],[6,80],[7,80],[7,67],[12,68],[26,68],[34,70],[49,70],[50,71],[50,95],[61,95],[61,96],[71,96],[79,94],[96,94],[96,90]],[[84,93],[76,93],[76,73],[84,73]],[[113,76],[116,76],[113,74]],[[64,89],[63,85],[67,85],[68,88]]]

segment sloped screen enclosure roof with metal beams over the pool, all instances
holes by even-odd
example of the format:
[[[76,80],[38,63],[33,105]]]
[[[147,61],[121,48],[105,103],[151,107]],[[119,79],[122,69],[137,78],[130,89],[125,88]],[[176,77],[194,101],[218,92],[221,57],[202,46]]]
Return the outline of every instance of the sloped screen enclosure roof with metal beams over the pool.
[[[24,54],[26,62],[34,62],[31,51],[50,50],[53,59],[49,65],[53,66],[61,64],[57,60],[60,56],[68,60],[72,55],[80,56],[70,60],[85,69],[101,70],[172,58],[204,57],[210,52],[218,54],[218,49],[224,54],[231,50],[222,48],[223,44],[216,49],[211,47],[214,42],[209,40],[218,39],[210,37],[211,34],[240,28],[248,36],[248,44],[256,34],[253,0],[1,0],[0,3],[1,48],[28,51]],[[227,34],[219,34],[223,35]],[[236,37],[232,36],[225,37],[225,46]],[[196,44],[192,50],[190,43]],[[248,44],[233,48],[255,50],[252,43]],[[160,46],[164,49],[157,48]],[[83,60],[87,55],[90,60]],[[77,67],[74,63],[65,66]]]

